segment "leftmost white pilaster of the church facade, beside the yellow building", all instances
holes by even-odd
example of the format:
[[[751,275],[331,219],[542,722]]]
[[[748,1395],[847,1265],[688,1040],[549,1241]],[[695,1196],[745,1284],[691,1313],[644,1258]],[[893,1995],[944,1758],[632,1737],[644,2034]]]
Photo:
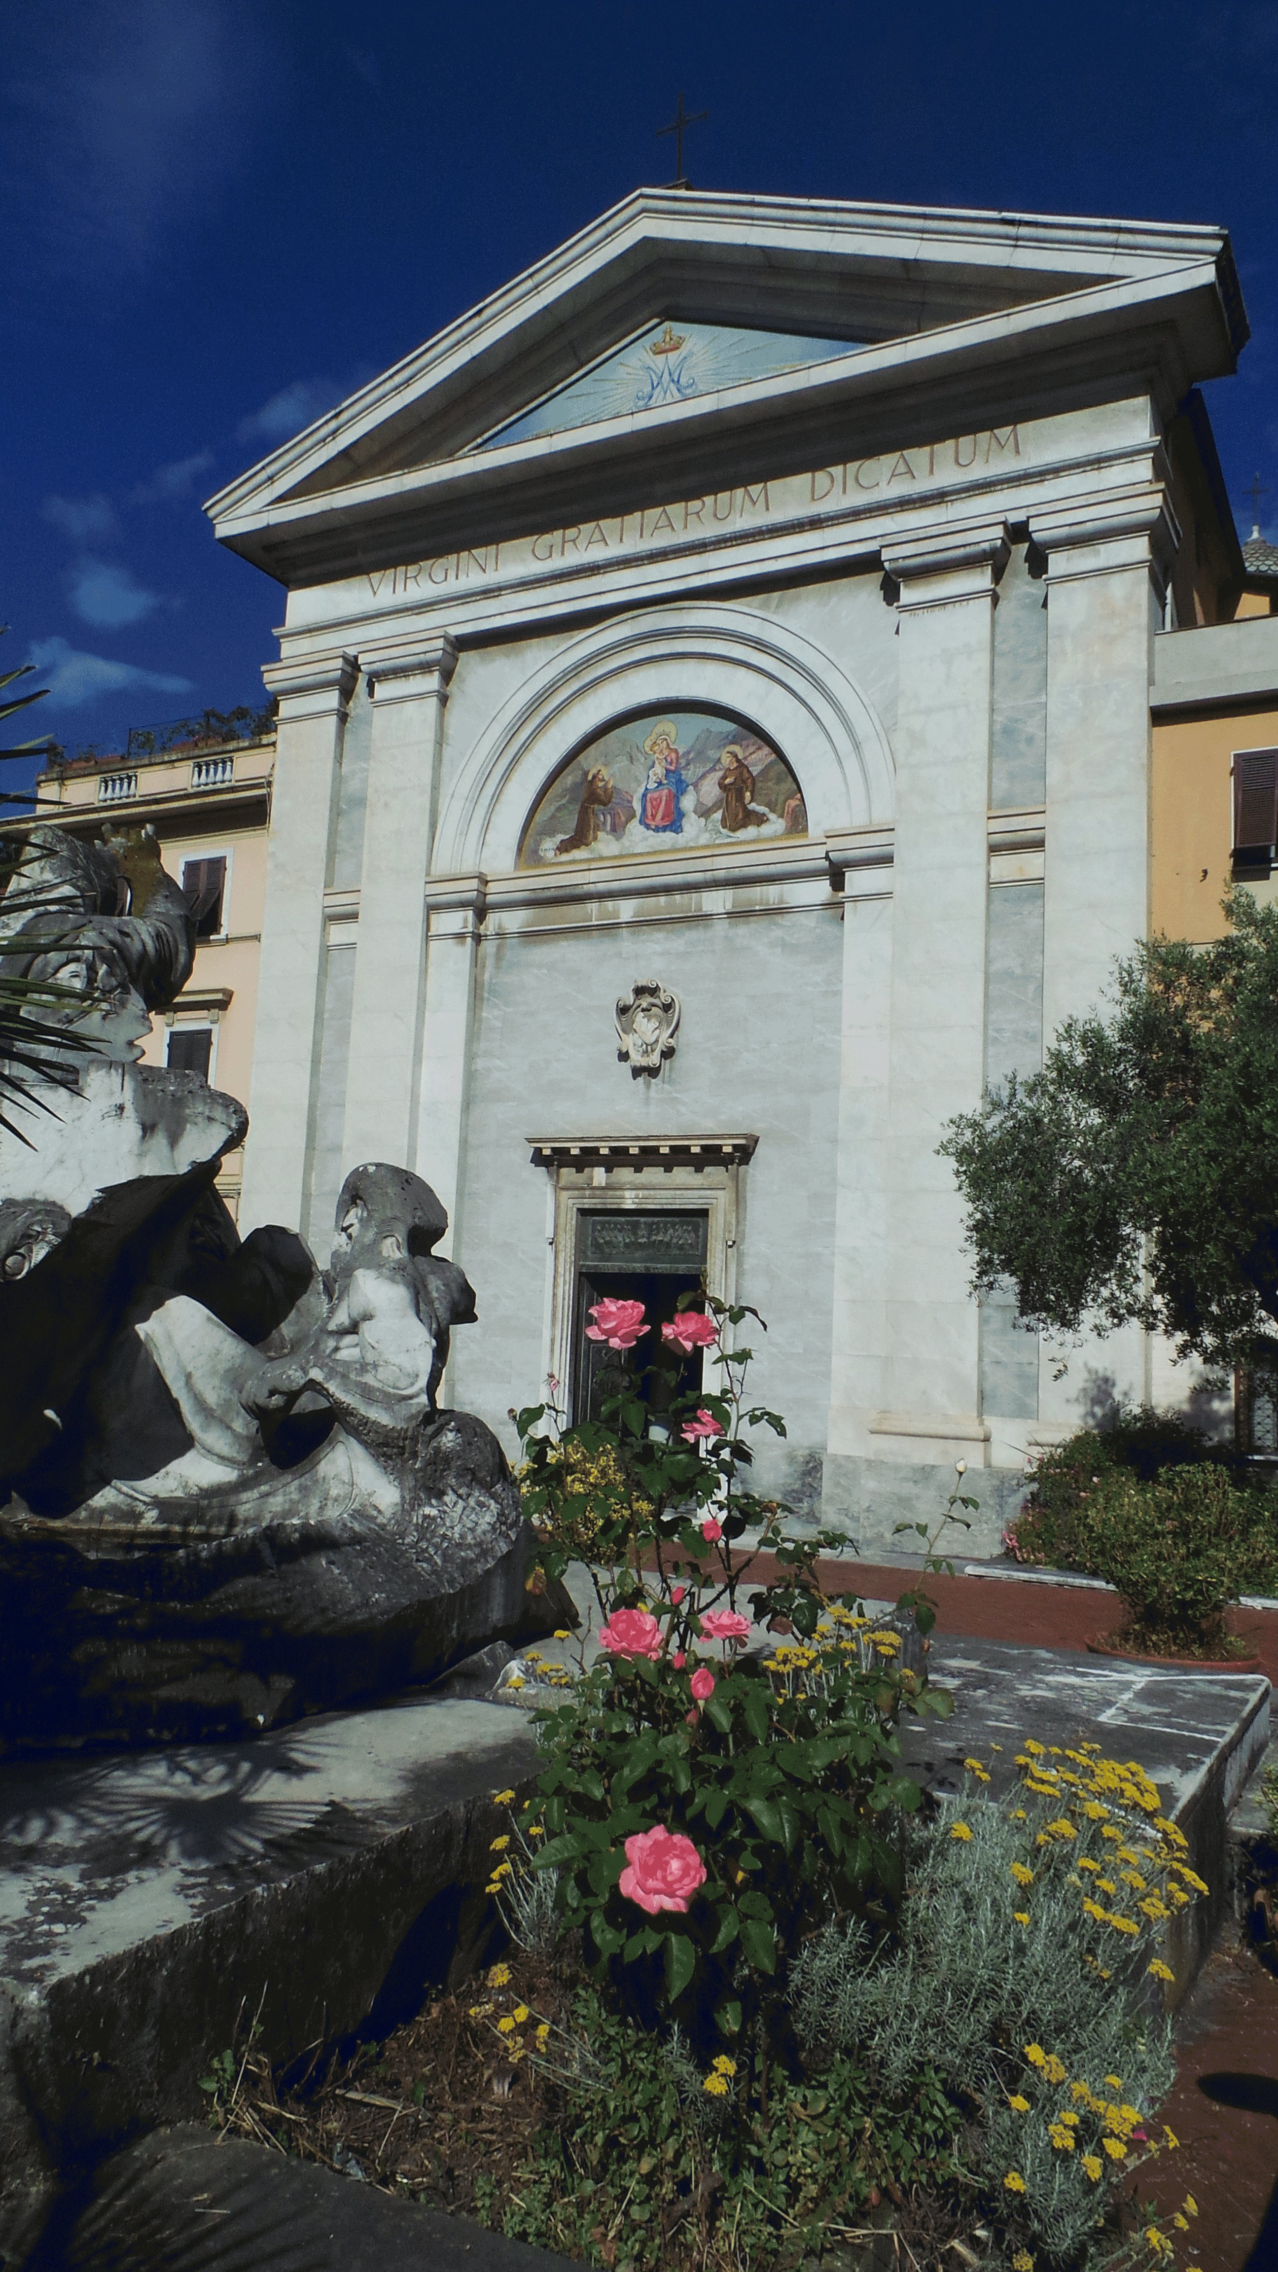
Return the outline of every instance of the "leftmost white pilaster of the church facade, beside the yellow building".
[[[259,1222],[298,1229],[318,1072],[323,1006],[323,893],[332,861],[341,736],[359,666],[352,654],[268,663],[280,698],[250,1134],[243,1154],[241,1231]]]

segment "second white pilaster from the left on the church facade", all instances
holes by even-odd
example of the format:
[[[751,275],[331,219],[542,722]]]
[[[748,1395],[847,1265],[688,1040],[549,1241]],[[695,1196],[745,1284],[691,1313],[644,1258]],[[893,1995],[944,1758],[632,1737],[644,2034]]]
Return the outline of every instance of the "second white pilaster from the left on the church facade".
[[[423,1066],[425,877],[439,804],[450,638],[364,659],[373,698],[359,943],[346,1081],[343,1159],[414,1156]]]

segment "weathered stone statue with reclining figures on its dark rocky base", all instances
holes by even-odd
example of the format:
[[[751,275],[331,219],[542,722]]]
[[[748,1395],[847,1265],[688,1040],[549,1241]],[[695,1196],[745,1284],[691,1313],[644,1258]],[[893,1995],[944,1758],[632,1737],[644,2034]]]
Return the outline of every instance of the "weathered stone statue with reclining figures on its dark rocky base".
[[[243,1109],[139,1063],[193,959],[150,832],[34,829],[0,941],[68,1036],[0,1127],[0,1745],[252,1734],[571,1622],[496,1436],[437,1409],[475,1297],[434,1193],[355,1168],[323,1272],[241,1241]]]

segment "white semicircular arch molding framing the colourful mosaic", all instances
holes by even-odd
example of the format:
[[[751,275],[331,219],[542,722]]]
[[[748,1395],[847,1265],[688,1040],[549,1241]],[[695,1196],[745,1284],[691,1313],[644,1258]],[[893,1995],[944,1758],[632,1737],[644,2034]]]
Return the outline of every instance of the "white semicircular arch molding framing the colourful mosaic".
[[[541,800],[591,743],[637,720],[648,720],[646,741],[684,716],[732,725],[737,738],[775,752],[803,795],[810,836],[891,820],[887,732],[839,663],[771,616],[680,604],[596,625],[514,688],[453,775],[434,872],[507,875]],[[785,834],[785,800],[778,818]]]

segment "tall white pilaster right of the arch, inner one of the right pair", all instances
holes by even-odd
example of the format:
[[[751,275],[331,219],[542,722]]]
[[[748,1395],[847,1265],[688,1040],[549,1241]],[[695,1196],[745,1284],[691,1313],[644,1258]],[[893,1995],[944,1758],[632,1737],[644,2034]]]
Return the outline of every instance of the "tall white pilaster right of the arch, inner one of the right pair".
[[[882,1406],[866,1450],[980,1461],[978,1306],[946,1122],[985,1077],[987,809],[1001,520],[885,548],[898,584]]]

